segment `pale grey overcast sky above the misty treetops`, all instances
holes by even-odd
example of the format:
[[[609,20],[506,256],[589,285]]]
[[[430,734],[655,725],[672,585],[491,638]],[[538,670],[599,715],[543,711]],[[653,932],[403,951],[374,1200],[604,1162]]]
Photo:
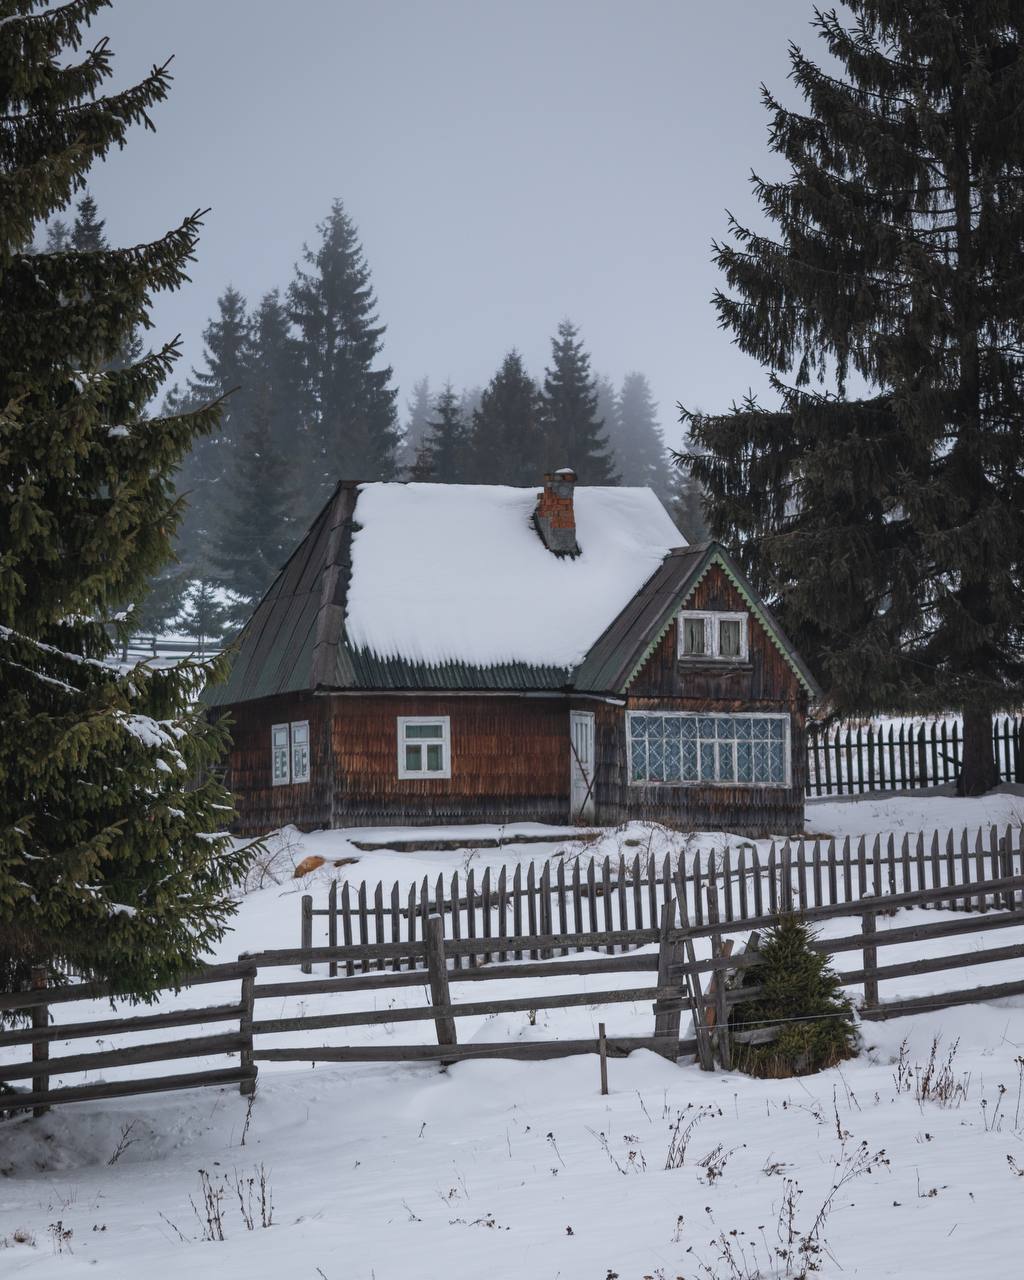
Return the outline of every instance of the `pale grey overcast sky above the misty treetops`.
[[[362,237],[401,406],[416,379],[543,376],[568,316],[594,367],[724,408],[762,370],[718,330],[710,241],[772,172],[810,0],[114,0],[118,83],[174,55],[155,134],[93,170],[115,243],[210,206],[193,283],[155,311],[188,362],[228,283],[284,287],[340,197]]]

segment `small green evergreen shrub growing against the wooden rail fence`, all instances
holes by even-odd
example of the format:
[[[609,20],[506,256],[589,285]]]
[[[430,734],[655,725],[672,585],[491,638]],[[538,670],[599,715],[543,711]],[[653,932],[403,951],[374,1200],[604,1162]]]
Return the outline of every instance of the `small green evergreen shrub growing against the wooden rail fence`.
[[[810,1075],[854,1057],[858,1032],[831,956],[810,947],[814,933],[795,915],[783,916],[760,943],[763,964],[742,970],[744,987],[762,995],[735,1005],[730,1030],[736,1036],[772,1028],[765,1044],[733,1041],[733,1066],[749,1075]]]

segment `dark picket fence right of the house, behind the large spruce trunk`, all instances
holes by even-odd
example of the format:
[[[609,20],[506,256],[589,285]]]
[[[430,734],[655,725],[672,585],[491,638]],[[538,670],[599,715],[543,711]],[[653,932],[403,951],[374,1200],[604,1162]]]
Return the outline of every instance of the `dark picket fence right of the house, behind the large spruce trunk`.
[[[1004,782],[1024,782],[1024,719],[997,716],[992,750]],[[809,796],[908,791],[955,783],[963,740],[956,721],[860,724],[808,730]]]

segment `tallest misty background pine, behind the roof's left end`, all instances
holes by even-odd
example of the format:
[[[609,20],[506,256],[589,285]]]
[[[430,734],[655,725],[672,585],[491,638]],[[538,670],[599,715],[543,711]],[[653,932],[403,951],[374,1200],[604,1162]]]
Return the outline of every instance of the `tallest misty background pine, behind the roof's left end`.
[[[390,480],[396,474],[397,389],[376,369],[384,326],[376,323],[370,268],[356,225],[339,200],[297,268],[288,311],[300,334],[311,434],[307,513],[339,477]]]

